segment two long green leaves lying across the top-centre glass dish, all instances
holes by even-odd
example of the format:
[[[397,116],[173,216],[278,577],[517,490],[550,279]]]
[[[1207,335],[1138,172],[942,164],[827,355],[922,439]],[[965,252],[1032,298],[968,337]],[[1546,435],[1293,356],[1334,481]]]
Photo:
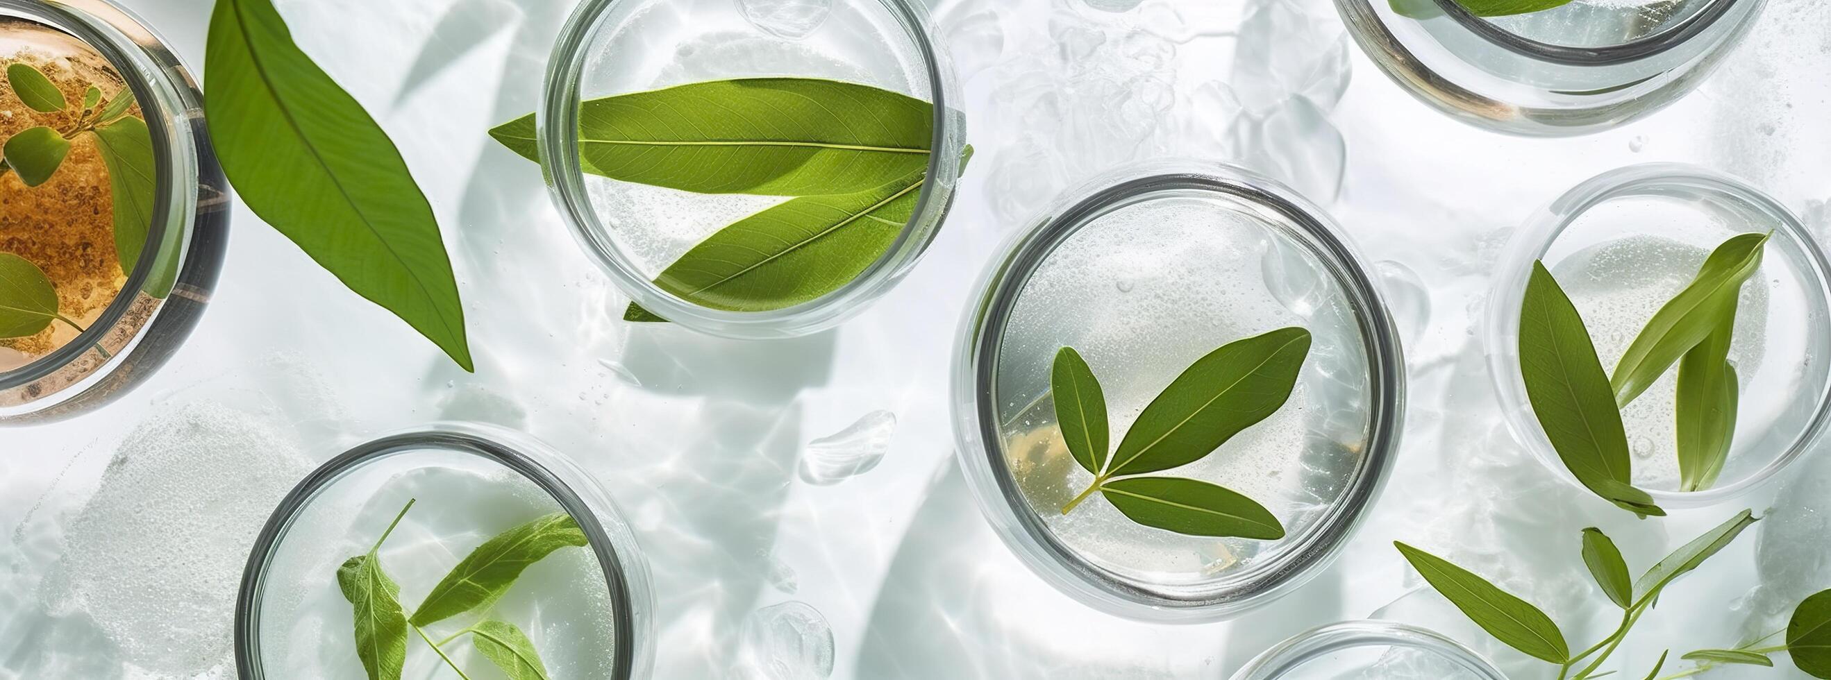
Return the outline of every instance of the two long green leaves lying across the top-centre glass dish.
[[[535,132],[529,113],[491,137],[538,163]],[[932,104],[824,79],[692,82],[579,110],[588,174],[793,197],[714,232],[655,276],[663,291],[723,311],[793,307],[862,274],[914,216],[932,141]],[[663,318],[632,303],[624,320]]]

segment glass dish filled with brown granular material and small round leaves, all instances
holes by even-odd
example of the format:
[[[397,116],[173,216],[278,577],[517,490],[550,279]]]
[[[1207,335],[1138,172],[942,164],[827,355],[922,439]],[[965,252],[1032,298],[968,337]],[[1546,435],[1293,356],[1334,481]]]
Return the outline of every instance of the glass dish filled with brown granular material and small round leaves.
[[[0,141],[68,144],[0,172],[0,260],[16,276],[0,296],[57,316],[0,333],[0,424],[55,420],[145,382],[190,335],[222,269],[229,190],[196,82],[125,9],[0,0],[0,68],[57,90],[27,102],[0,88]]]

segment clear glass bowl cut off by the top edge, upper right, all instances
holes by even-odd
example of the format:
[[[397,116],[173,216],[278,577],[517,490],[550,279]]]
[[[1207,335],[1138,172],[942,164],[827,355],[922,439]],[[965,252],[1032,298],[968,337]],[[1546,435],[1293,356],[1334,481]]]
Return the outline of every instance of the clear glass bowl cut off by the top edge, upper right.
[[[1597,132],[1677,101],[1754,26],[1761,4],[1576,0],[1481,18],[1456,0],[1335,0],[1393,82],[1459,121],[1520,135]]]

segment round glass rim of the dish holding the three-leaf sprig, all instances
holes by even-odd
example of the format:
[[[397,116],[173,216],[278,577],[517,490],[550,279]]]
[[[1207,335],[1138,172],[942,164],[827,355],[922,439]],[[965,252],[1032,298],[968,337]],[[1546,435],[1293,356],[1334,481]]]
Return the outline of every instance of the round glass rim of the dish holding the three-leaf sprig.
[[[1366,462],[1359,477],[1342,492],[1327,515],[1320,517],[1304,543],[1287,550],[1280,561],[1262,567],[1267,587],[1258,590],[1223,590],[1201,598],[1172,598],[1150,592],[1106,568],[1078,558],[1053,532],[1040,526],[1022,492],[1013,488],[1009,470],[996,446],[996,402],[991,400],[991,377],[996,366],[996,335],[989,327],[1003,327],[1022,285],[1011,278],[1022,274],[1027,282],[1047,256],[1091,218],[1133,197],[1177,190],[1210,190],[1232,199],[1254,203],[1280,212],[1304,228],[1313,239],[1309,247],[1322,249],[1318,260],[1344,283],[1351,300],[1362,305],[1357,314],[1364,347],[1370,353],[1370,382],[1373,391],[1371,424],[1368,431]],[[1326,212],[1274,179],[1245,168],[1194,161],[1161,159],[1113,168],[1062,197],[1046,218],[1033,221],[1000,245],[998,258],[974,287],[976,300],[967,307],[956,342],[952,377],[952,411],[958,457],[981,512],[1011,552],[1058,590],[1110,614],[1144,622],[1203,623],[1238,616],[1263,607],[1289,590],[1302,587],[1327,567],[1346,547],[1348,537],[1366,517],[1386,484],[1392,461],[1401,441],[1404,411],[1404,356],[1397,327],[1375,280],[1360,263],[1368,261]],[[1066,201],[1064,197],[1077,197]]]

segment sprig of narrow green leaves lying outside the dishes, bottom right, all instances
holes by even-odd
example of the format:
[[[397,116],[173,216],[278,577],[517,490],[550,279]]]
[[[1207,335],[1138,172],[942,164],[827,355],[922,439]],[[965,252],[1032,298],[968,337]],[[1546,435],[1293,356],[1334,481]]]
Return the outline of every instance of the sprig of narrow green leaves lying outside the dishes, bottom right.
[[[1622,609],[1622,623],[1613,634],[1580,654],[1571,654],[1571,647],[1558,623],[1533,603],[1501,590],[1498,585],[1448,559],[1404,543],[1393,545],[1432,589],[1437,589],[1456,609],[1496,640],[1533,658],[1560,664],[1566,671],[1587,660],[1589,664],[1576,678],[1593,678],[1602,662],[1608,660],[1609,653],[1628,634],[1628,629],[1659,600],[1666,585],[1696,570],[1705,559],[1716,556],[1754,523],[1754,514],[1743,510],[1723,525],[1679,547],[1641,574],[1639,579],[1631,581],[1628,578],[1628,563],[1622,559],[1615,541],[1597,528],[1586,528],[1582,541],[1584,565],[1609,601]],[[1661,665],[1664,665],[1663,660]],[[1659,669],[1653,671],[1653,675],[1657,673]]]

